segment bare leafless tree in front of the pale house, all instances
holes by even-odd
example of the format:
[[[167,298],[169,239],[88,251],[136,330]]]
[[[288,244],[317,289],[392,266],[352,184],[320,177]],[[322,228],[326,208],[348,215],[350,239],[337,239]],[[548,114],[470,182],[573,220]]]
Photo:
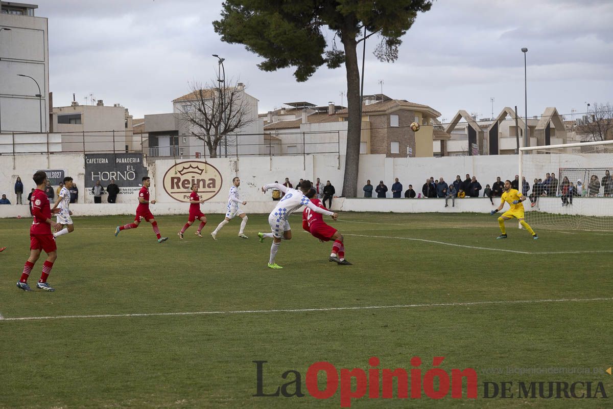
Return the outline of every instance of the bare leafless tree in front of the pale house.
[[[191,93],[183,97],[179,108],[180,120],[187,123],[192,136],[204,141],[211,158],[217,157],[221,142],[227,143],[228,138],[254,121],[245,98],[245,86],[232,80],[229,86],[218,83],[214,87],[192,82]]]

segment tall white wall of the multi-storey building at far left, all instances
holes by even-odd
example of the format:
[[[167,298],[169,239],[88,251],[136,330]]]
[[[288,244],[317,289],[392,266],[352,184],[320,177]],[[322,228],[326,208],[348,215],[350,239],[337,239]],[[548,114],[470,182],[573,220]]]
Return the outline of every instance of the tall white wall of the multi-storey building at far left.
[[[10,28],[10,31],[0,31],[0,129],[2,132],[40,132],[42,122],[42,130],[47,132],[47,18],[0,14],[0,28]],[[42,97],[35,96],[39,89],[31,78],[17,74],[34,78]]]

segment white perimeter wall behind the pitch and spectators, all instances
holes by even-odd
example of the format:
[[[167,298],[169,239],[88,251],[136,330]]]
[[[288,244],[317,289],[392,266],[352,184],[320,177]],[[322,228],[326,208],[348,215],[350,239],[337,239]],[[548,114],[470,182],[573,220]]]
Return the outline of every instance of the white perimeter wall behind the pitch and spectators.
[[[586,166],[581,156],[571,155],[539,155],[541,162],[535,164],[531,162],[528,167],[527,179],[531,181],[535,176],[544,177],[546,172],[557,170],[559,167]],[[598,166],[604,163],[611,163],[611,155],[608,158],[595,156],[592,161]],[[240,192],[242,198],[248,202],[244,206],[248,213],[268,213],[275,203],[271,200],[270,191],[264,195],[259,190],[265,183],[272,183],[275,180],[283,183],[284,178],[297,183],[300,178],[310,178],[315,180],[321,178],[322,182],[330,180],[337,191],[341,194],[343,188],[343,169],[345,167],[345,157],[337,155],[307,155],[307,156],[276,156],[276,157],[246,157],[240,159],[216,158],[209,159],[211,165],[215,166],[223,176],[223,185],[219,194],[211,201],[202,204],[205,213],[225,212],[227,203],[227,191],[230,188],[232,178],[241,178]],[[159,160],[147,164],[148,175],[153,179],[151,186],[151,199],[158,201],[151,205],[154,214],[183,214],[188,212],[188,204],[177,202],[169,197],[163,189],[162,177],[166,170],[173,166],[172,159]],[[31,175],[37,169],[64,169],[66,174],[75,178],[79,187],[79,203],[73,204],[70,208],[75,215],[113,215],[113,214],[134,214],[137,205],[136,194],[118,196],[117,204],[107,204],[103,197],[102,204],[93,204],[93,197],[85,190],[85,161],[83,155],[0,155],[0,194],[6,193],[12,203],[15,203],[13,186],[15,178],[20,176],[24,182],[24,201],[30,189],[34,187]],[[367,179],[373,185],[377,185],[379,180],[384,180],[391,190],[394,177],[398,177],[403,183],[403,189],[408,188],[409,183],[417,192],[421,192],[421,186],[425,179],[433,176],[435,178],[444,177],[447,182],[452,182],[455,175],[459,174],[464,178],[468,173],[476,175],[481,185],[490,185],[497,176],[501,178],[512,178],[517,174],[517,156],[454,156],[446,158],[386,158],[384,155],[360,155],[360,170],[358,192],[362,194],[362,186]],[[55,186],[56,187],[56,186]],[[388,197],[391,192],[388,192]],[[85,203],[83,202],[85,200]],[[541,199],[545,200],[545,199]],[[559,198],[547,199],[550,201],[560,201]],[[598,200],[599,208],[604,208],[600,201],[609,199],[575,199],[575,200]],[[450,203],[451,204],[451,203]],[[355,212],[487,212],[492,209],[492,205],[487,199],[458,199],[456,206],[444,208],[442,199],[334,199],[332,208],[342,211]],[[582,206],[581,212],[590,212],[593,206]],[[555,203],[547,208],[558,207]],[[578,209],[579,206],[573,206]],[[613,208],[613,203],[609,208]],[[543,208],[541,208],[543,210]],[[566,212],[577,212],[577,210],[567,209]],[[583,214],[583,213],[582,213]],[[591,214],[591,213],[590,213]],[[0,205],[0,217],[15,217],[17,215],[29,216],[27,204]]]

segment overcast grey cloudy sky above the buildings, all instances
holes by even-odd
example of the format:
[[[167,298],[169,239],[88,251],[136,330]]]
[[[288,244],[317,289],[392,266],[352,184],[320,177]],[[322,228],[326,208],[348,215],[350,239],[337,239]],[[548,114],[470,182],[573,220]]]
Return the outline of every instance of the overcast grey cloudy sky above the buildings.
[[[55,106],[75,93],[80,104],[89,94],[120,103],[134,118],[171,112],[190,82],[215,77],[211,54],[226,59],[227,77],[246,83],[259,112],[292,101],[341,104],[346,93],[344,66],[322,67],[304,83],[293,69],[260,71],[261,58],[213,31],[221,1],[32,2],[48,18]],[[586,101],[613,102],[611,21],[611,0],[437,0],[403,37],[397,62],[380,63],[367,47],[364,92],[380,93],[383,80],[384,94],[430,105],[447,121],[459,109],[490,117],[490,97],[495,115],[514,105],[523,113],[527,47],[528,116],[557,107],[570,118]]]

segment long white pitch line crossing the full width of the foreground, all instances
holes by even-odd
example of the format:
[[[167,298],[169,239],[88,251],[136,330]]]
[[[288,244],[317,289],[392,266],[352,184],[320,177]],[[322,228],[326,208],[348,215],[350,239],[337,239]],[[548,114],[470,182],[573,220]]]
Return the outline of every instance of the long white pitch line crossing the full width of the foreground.
[[[609,298],[562,298],[542,300],[496,300],[496,301],[469,301],[469,302],[440,302],[434,304],[400,304],[400,305],[371,305],[364,307],[329,307],[329,308],[299,308],[278,310],[238,310],[238,311],[199,311],[183,313],[140,313],[140,314],[99,314],[99,315],[58,315],[58,316],[26,316],[20,318],[4,318],[2,321],[31,321],[34,319],[66,319],[66,318],[119,318],[132,316],[176,316],[176,315],[225,315],[225,314],[259,314],[259,313],[301,313],[326,312],[347,310],[383,310],[386,308],[426,308],[426,307],[462,307],[466,305],[492,305],[492,304],[537,304],[544,302],[587,302],[611,301]]]

